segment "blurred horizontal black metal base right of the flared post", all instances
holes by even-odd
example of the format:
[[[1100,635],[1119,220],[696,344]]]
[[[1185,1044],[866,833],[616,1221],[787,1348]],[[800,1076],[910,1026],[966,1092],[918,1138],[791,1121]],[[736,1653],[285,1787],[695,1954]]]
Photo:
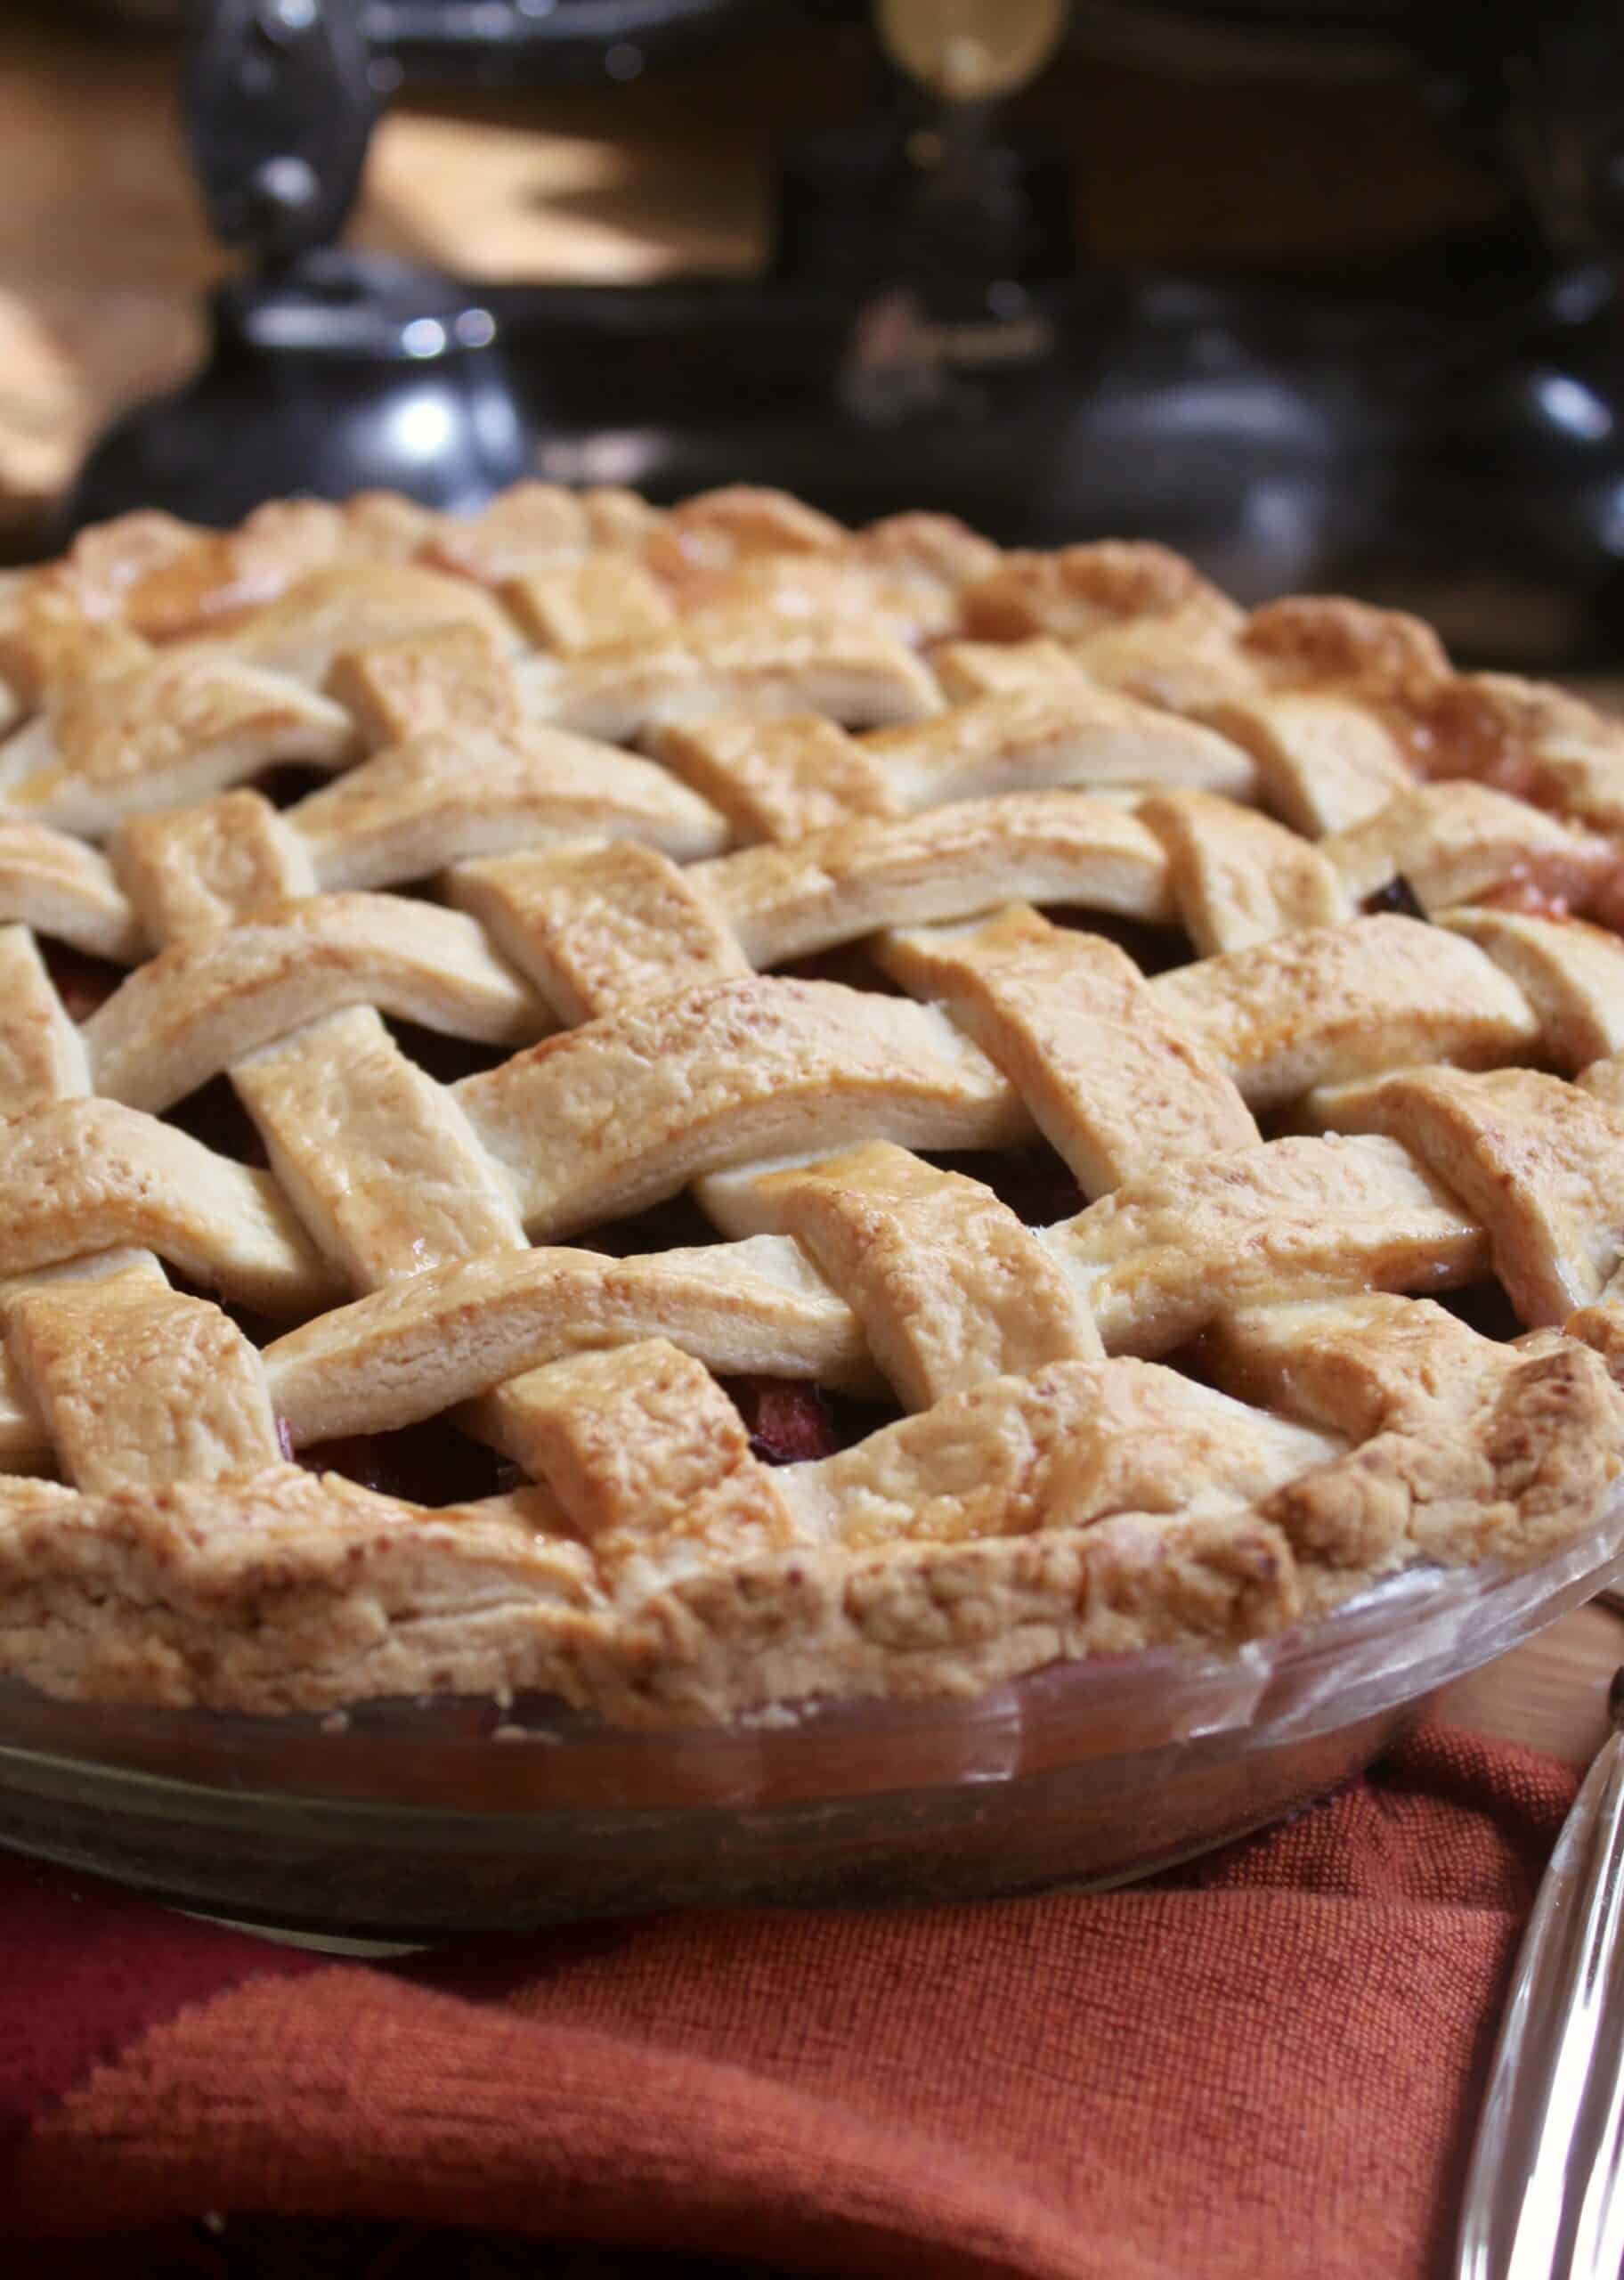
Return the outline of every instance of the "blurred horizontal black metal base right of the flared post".
[[[1617,663],[1608,269],[1455,246],[1380,285],[994,278],[979,317],[969,285],[947,317],[899,285],[839,319],[805,276],[766,308],[744,285],[493,306],[559,481],[778,481],[848,520],[926,502],[1010,545],[1150,534],[1241,600],[1353,591],[1462,657]]]

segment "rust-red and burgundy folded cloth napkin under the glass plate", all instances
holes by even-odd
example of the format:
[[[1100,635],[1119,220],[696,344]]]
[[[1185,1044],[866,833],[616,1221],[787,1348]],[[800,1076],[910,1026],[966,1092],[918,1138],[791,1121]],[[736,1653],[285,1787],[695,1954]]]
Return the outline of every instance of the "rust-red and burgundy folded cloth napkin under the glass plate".
[[[1439,2273],[1572,1792],[1430,1728],[1136,1890],[388,1968],[5,1860],[0,2269]]]

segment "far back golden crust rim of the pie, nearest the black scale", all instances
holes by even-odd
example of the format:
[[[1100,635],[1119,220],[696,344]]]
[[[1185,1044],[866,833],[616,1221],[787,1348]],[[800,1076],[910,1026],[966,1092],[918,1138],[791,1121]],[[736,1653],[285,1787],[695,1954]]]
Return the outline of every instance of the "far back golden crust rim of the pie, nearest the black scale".
[[[550,609],[559,618],[557,581],[570,563],[595,565],[611,584],[616,565],[636,570],[668,597],[677,622],[698,604],[723,634],[739,609],[748,613],[739,622],[760,629],[782,593],[801,620],[842,622],[830,597],[846,595],[851,616],[862,611],[869,625],[890,622],[910,638],[937,638],[956,625],[994,636],[937,652],[949,698],[1054,693],[1056,670],[1070,670],[1083,689],[1216,720],[1261,768],[1268,805],[1307,830],[1364,821],[1414,780],[1416,764],[1535,789],[1546,805],[1603,830],[1624,814],[1617,732],[1556,691],[1451,675],[1414,620],[1346,602],[1268,604],[1248,618],[1154,547],[1109,543],[999,561],[933,518],[896,518],[853,538],[796,502],[760,492],[703,497],[661,518],[623,495],[582,504],[522,486],[474,524],[390,499],[344,511],[306,502],[265,508],[226,536],[192,534],[160,515],[128,518],[87,534],[55,570],[14,581],[0,609],[0,659],[27,702],[27,691],[50,679],[52,657],[64,677],[84,677],[87,625],[112,627],[125,643],[224,625],[214,663],[292,670],[308,682],[340,645],[424,632],[449,616],[515,648],[520,627],[547,638],[547,609],[518,600],[525,577],[554,581]],[[924,606],[887,616],[874,586],[880,575],[912,581]],[[481,595],[477,579],[520,579],[509,588],[513,613]],[[609,634],[620,616],[607,611]],[[650,632],[643,609],[643,648]],[[123,654],[128,663],[130,650]]]

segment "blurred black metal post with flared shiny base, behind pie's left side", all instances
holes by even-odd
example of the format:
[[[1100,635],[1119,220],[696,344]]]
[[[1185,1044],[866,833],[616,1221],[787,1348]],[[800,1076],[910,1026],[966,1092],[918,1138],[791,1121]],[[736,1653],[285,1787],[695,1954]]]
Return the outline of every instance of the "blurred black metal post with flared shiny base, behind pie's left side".
[[[452,278],[349,253],[376,119],[363,0],[194,11],[187,132],[214,230],[253,271],[212,296],[203,369],[100,438],[64,527],[148,499],[235,522],[294,490],[472,508],[525,474],[497,319]]]

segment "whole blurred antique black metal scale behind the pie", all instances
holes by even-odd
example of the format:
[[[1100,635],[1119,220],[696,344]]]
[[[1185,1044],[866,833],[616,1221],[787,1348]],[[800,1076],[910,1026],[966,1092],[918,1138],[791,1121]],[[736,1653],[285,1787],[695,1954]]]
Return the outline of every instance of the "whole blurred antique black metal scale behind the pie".
[[[479,285],[338,242],[401,78],[614,78],[684,50],[721,71],[791,18],[860,36],[862,16],[851,0],[198,9],[187,128],[244,269],[217,294],[201,374],[100,442],[68,522],[153,499],[230,522],[365,483],[472,506],[527,470],[652,497],[746,479],[851,520],[944,506],[1031,545],[1147,534],[1243,600],[1353,588],[1432,616],[1467,659],[1617,663],[1615,5],[1079,0],[1067,25],[1061,0],[883,0],[874,100],[782,153],[757,278]],[[958,64],[937,16],[969,25]],[[1197,39],[1309,62],[1380,48],[1494,153],[1505,223],[1382,276],[1086,258],[1065,150],[1008,130],[997,98],[1058,36],[1124,27],[1175,64]]]

